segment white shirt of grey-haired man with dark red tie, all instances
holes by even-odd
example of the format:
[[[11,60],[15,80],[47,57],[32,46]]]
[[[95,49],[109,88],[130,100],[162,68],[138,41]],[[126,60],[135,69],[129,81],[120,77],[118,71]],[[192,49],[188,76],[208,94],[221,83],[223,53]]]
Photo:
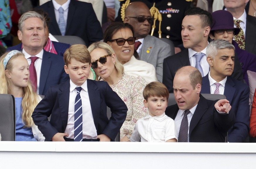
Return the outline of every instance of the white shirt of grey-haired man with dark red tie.
[[[30,57],[32,57],[30,54],[28,54],[24,48],[22,49],[22,53],[25,55],[25,58],[28,61],[28,64],[31,64],[31,59]],[[41,67],[42,67],[42,59],[43,59],[43,53],[44,50],[42,49],[37,55],[35,55],[36,57],[38,57],[38,59],[36,59],[34,65],[35,65],[35,71],[36,71],[36,77],[37,77],[37,89],[36,89],[36,93],[39,94],[39,85],[40,85],[40,74],[41,74]]]

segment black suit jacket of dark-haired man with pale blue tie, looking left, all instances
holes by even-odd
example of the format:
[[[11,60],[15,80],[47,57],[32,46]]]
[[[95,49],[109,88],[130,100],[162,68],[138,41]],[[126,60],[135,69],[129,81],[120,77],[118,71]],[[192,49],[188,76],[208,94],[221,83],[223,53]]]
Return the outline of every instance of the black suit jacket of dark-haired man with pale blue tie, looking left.
[[[184,49],[183,51],[164,59],[163,83],[167,87],[169,93],[173,93],[174,75],[182,66],[190,66],[188,49]],[[243,81],[243,72],[238,58],[235,58],[234,71],[231,76],[239,81]]]

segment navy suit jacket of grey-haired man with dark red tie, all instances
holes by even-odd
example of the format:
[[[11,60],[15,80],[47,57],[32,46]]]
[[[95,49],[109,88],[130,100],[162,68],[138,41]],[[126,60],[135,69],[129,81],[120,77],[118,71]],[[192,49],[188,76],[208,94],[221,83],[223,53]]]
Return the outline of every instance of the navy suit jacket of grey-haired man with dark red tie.
[[[21,43],[16,46],[9,47],[7,50],[22,51]],[[39,94],[45,95],[50,86],[63,83],[68,79],[69,76],[64,71],[63,57],[44,50],[40,72]]]

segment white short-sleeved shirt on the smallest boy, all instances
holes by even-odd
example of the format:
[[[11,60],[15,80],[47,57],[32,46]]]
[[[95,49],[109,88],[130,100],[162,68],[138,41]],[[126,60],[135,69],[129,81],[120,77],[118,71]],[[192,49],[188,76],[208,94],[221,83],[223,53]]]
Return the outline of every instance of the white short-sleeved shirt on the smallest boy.
[[[160,116],[147,115],[139,119],[131,135],[131,142],[165,142],[177,139],[177,130],[174,120],[163,113]]]

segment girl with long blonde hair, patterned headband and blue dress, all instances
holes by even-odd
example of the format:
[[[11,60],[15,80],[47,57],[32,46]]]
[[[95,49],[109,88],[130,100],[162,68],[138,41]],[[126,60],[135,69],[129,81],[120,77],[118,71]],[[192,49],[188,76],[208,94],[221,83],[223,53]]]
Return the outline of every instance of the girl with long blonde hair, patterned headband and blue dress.
[[[41,100],[29,81],[29,65],[18,50],[5,53],[0,59],[0,93],[15,98],[16,141],[44,141],[43,134],[32,120],[35,106]]]

